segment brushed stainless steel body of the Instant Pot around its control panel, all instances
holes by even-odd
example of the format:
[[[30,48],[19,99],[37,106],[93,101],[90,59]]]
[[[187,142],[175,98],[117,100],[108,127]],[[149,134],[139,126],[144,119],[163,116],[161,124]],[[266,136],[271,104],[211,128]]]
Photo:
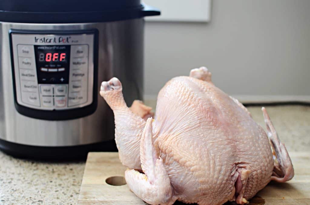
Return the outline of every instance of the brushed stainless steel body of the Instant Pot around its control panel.
[[[113,76],[120,79],[127,105],[143,94],[144,20],[87,24],[21,24],[0,22],[0,139],[33,146],[76,146],[114,138],[113,112],[98,92],[98,106],[73,120],[40,120],[15,109],[9,30],[97,29],[98,87]],[[95,68],[96,69],[96,68]]]

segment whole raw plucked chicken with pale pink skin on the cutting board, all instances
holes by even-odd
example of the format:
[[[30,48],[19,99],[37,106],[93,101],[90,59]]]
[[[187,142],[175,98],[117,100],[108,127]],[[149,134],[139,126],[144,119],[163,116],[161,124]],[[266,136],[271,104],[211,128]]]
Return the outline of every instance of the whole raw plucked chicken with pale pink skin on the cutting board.
[[[205,67],[166,83],[154,119],[141,101],[126,106],[117,78],[102,82],[100,95],[114,112],[126,182],[147,203],[245,204],[271,180],[294,176],[266,109],[267,134]]]

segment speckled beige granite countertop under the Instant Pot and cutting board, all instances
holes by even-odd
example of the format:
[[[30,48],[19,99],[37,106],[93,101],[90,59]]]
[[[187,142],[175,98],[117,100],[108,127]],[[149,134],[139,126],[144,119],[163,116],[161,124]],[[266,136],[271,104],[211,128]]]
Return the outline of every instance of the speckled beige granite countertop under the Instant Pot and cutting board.
[[[265,129],[261,107],[248,109],[253,119]],[[310,107],[266,109],[289,151],[310,149]],[[84,167],[84,161],[34,161],[16,159],[0,152],[0,204],[76,204]]]

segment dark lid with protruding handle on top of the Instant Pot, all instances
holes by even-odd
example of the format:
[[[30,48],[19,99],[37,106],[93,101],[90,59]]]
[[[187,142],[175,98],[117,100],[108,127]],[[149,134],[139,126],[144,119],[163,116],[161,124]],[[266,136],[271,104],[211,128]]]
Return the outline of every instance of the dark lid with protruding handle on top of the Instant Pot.
[[[140,0],[2,0],[0,21],[16,23],[91,23],[160,15]]]

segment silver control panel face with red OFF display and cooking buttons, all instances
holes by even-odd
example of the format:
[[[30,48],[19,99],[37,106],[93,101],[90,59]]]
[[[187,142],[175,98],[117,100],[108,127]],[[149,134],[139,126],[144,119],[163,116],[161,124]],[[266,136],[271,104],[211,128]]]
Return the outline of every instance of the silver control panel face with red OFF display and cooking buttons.
[[[18,104],[39,110],[93,102],[94,34],[12,33]]]

